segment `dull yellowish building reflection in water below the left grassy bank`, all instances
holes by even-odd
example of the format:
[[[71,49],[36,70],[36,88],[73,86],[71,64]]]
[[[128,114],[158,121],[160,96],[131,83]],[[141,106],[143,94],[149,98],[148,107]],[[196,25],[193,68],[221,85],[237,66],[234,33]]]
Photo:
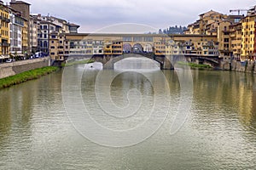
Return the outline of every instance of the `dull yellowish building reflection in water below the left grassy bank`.
[[[27,88],[29,86],[30,88]],[[32,106],[38,94],[38,81],[26,82],[0,91],[0,137],[19,136],[31,129]],[[11,133],[16,130],[16,134]],[[15,136],[11,136],[15,137]],[[1,138],[0,138],[1,139]],[[1,141],[0,141],[1,144]]]

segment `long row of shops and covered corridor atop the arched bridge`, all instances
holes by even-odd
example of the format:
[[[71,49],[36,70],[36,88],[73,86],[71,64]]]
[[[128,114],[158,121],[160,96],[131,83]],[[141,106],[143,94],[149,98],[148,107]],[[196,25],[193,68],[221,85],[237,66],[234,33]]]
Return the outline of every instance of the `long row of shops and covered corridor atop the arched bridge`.
[[[160,35],[160,34],[79,34],[60,35],[64,43],[55,44],[55,54],[68,57],[119,56],[122,54],[189,55],[218,57],[215,36]]]

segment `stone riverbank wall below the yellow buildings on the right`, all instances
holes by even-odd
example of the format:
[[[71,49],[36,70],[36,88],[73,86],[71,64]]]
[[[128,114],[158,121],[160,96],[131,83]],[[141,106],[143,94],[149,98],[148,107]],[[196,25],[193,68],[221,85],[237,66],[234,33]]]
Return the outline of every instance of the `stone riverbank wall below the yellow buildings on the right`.
[[[223,60],[220,64],[221,70],[224,71],[239,71],[256,74],[255,61],[238,61],[238,60]]]

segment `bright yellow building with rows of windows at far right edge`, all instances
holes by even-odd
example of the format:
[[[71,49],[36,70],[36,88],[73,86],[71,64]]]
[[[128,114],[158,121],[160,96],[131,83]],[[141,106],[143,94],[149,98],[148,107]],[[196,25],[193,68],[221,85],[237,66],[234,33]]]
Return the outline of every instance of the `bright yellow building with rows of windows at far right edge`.
[[[241,20],[241,60],[255,60],[256,57],[256,14]]]

